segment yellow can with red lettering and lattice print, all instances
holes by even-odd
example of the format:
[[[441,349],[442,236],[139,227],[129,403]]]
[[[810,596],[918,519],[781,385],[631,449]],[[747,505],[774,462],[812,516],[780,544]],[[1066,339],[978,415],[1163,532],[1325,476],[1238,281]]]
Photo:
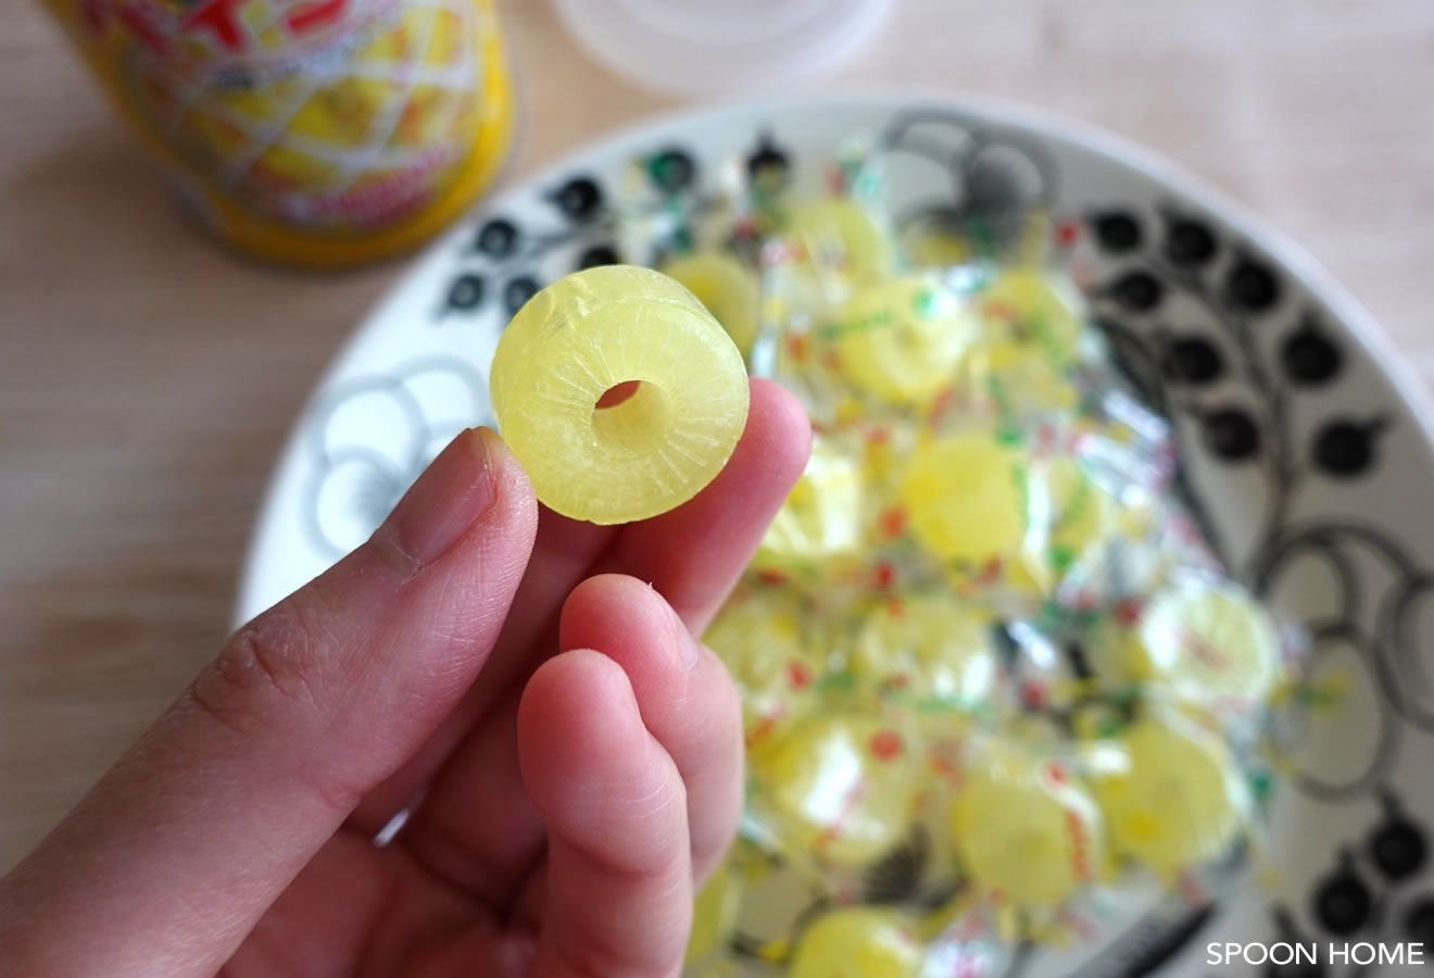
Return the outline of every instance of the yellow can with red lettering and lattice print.
[[[185,201],[305,267],[406,251],[496,178],[490,0],[43,0]]]

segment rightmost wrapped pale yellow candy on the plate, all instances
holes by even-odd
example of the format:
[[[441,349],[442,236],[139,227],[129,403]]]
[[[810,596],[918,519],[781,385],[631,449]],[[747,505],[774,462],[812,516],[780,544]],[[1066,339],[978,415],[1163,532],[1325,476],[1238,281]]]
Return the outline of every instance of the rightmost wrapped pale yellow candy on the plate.
[[[1129,637],[1130,670],[1216,707],[1259,703],[1279,681],[1269,615],[1229,584],[1183,584],[1156,595]]]

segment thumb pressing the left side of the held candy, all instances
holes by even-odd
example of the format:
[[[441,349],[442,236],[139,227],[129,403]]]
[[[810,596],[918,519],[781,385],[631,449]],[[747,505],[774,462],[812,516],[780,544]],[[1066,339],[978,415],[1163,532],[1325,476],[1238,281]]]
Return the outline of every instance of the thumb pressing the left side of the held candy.
[[[367,543],[241,628],[0,880],[11,974],[217,972],[472,683],[536,518],[502,442],[459,435]]]

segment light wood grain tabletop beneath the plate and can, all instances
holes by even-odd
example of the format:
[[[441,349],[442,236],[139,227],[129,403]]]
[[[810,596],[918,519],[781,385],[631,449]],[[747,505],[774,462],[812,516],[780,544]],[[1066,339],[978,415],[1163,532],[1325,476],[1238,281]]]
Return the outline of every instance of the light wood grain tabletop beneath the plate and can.
[[[513,175],[674,99],[502,4]],[[895,0],[793,86],[1020,99],[1154,146],[1305,244],[1434,379],[1434,3]],[[222,641],[305,391],[402,274],[241,264],[169,205],[57,33],[0,4],[0,870]]]

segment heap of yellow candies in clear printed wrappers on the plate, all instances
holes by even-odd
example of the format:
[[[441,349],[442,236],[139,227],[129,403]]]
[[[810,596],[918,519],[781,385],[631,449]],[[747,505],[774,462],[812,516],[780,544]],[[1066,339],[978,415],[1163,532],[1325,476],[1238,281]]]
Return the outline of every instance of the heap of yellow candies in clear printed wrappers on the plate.
[[[820,194],[769,156],[619,221],[816,432],[706,634],[749,784],[691,974],[979,978],[1141,886],[1213,899],[1304,642],[1197,532],[1050,215],[898,235],[862,139]]]

